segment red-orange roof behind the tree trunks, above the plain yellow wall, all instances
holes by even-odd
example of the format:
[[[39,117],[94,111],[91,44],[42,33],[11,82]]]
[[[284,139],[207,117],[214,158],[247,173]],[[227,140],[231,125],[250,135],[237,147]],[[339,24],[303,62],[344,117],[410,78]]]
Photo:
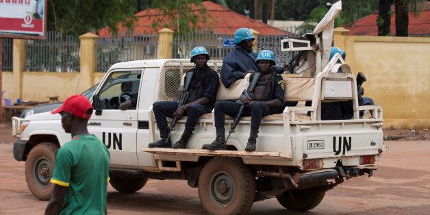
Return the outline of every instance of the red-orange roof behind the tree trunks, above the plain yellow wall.
[[[390,34],[396,35],[396,14],[394,6],[392,6],[393,14],[391,16]],[[378,27],[376,25],[378,12],[374,12],[368,16],[364,16],[357,20],[349,29],[349,35],[358,36],[377,36]],[[430,2],[426,2],[425,10],[415,18],[412,13],[409,13],[409,36],[430,36]]]

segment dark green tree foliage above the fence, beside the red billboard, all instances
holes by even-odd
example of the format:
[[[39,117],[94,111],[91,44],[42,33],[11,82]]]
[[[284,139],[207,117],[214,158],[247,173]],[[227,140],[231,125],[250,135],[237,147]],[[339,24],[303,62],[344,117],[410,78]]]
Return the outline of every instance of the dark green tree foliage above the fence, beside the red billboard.
[[[47,29],[79,36],[109,27],[118,31],[118,23],[132,29],[136,1],[129,0],[49,0]]]

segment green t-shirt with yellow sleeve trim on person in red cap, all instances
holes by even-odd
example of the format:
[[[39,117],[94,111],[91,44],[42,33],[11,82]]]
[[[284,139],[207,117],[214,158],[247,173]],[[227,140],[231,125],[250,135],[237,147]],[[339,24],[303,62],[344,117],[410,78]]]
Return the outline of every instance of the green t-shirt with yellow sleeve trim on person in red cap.
[[[51,183],[68,187],[60,214],[104,214],[109,181],[108,148],[94,135],[79,135],[55,155]]]

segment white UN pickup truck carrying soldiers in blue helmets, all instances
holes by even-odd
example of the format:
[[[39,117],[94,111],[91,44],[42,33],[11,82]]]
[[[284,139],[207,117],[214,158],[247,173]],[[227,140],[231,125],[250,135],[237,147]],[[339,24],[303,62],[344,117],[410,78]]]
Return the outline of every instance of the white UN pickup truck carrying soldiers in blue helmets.
[[[179,99],[181,77],[194,65],[190,60],[114,64],[95,90],[94,112],[88,121],[90,133],[110,151],[112,187],[136,192],[149,178],[183,179],[192,188],[199,188],[201,205],[210,214],[245,214],[253,202],[273,197],[290,210],[311,210],[322,201],[326,190],[344,179],[372,176],[385,151],[382,110],[378,105],[358,105],[355,75],[339,54],[328,62],[323,38],[318,32],[314,34],[319,49],[310,47],[309,41],[282,42],[282,48],[290,51],[315,51],[317,75],[283,77],[285,100],[299,101],[299,105],[263,118],[255,152],[244,151],[250,117],[242,118],[227,142],[227,151],[201,149],[215,138],[213,112],[199,119],[187,149],[148,148],[160,138],[153,102]],[[208,64],[220,72],[220,60]],[[340,68],[342,73],[338,73]],[[248,85],[249,77],[229,89],[220,84],[217,99],[236,101]],[[118,110],[130,92],[138,92],[137,107]],[[353,101],[351,119],[321,120],[322,103],[346,100]],[[312,101],[312,105],[304,106],[303,101]],[[370,114],[360,118],[359,111]],[[226,118],[228,131],[233,118]],[[177,122],[172,142],[179,140],[185,122],[186,117]],[[29,190],[38,199],[49,199],[55,152],[71,136],[64,133],[60,115],[50,112],[13,118],[12,123],[13,135],[19,138],[14,143],[14,157],[25,161]]]

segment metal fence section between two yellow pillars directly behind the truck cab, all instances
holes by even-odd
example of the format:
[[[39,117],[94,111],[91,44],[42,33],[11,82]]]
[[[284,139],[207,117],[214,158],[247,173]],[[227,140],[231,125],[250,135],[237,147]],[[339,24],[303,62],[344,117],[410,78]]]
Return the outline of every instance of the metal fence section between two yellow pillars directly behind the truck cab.
[[[97,40],[97,71],[108,71],[112,64],[129,60],[157,58],[158,35],[113,36]]]

